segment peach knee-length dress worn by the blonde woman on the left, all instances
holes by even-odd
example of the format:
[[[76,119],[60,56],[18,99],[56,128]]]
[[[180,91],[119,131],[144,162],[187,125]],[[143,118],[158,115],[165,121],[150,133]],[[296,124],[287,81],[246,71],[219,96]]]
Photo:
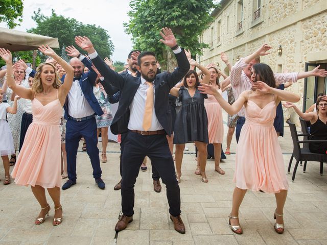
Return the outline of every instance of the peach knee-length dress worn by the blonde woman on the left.
[[[33,122],[11,173],[17,185],[61,186],[61,139],[59,121],[62,106],[58,99],[42,105],[34,97]]]

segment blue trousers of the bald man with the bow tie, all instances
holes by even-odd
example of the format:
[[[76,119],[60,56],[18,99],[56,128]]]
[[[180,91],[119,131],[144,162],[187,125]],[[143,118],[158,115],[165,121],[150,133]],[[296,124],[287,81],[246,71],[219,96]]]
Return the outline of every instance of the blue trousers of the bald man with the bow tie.
[[[68,179],[76,181],[76,156],[79,141],[83,137],[86,141],[86,152],[91,160],[93,177],[101,178],[101,167],[98,149],[97,122],[96,118],[85,121],[68,119],[66,123],[66,152]]]

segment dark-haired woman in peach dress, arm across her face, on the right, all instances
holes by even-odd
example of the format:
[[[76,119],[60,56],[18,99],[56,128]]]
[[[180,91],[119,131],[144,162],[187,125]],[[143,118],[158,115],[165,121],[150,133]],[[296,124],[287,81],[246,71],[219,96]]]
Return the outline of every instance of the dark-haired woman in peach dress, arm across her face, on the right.
[[[243,233],[238,214],[244,195],[248,189],[262,190],[275,194],[277,207],[274,213],[276,218],[274,229],[281,234],[284,232],[283,209],[288,181],[273,122],[276,105],[279,102],[282,100],[298,102],[300,96],[276,89],[273,72],[266,64],[253,65],[251,80],[252,91],[241,93],[232,105],[229,105],[210,85],[201,84],[199,90],[214,95],[221,107],[230,115],[236,114],[243,106],[245,107],[245,125],[236,150],[236,168],[233,178],[236,187],[229,215],[230,229],[236,234]]]

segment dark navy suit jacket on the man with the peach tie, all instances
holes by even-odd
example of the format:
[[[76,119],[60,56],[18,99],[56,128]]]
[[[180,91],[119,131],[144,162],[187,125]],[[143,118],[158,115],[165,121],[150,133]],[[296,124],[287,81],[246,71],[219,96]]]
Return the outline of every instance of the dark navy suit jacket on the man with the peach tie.
[[[157,74],[154,80],[155,99],[154,110],[168,135],[171,135],[172,112],[169,106],[168,95],[171,88],[178,83],[190,69],[190,63],[184,51],[175,54],[178,67],[172,72],[162,72]],[[129,106],[134,99],[134,95],[141,84],[141,78],[131,75],[120,75],[108,67],[100,56],[92,59],[92,63],[97,67],[107,83],[121,90],[121,97],[118,110],[112,120],[110,129],[113,134],[122,134],[128,131],[130,110]]]

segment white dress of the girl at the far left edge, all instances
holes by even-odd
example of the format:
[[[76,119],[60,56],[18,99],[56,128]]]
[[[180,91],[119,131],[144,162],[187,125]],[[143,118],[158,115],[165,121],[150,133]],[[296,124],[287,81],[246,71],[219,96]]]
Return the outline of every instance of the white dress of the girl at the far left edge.
[[[8,103],[0,103],[0,156],[10,156],[15,153],[11,130],[6,121]]]

